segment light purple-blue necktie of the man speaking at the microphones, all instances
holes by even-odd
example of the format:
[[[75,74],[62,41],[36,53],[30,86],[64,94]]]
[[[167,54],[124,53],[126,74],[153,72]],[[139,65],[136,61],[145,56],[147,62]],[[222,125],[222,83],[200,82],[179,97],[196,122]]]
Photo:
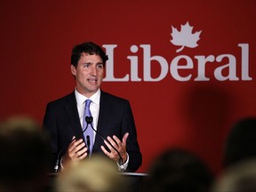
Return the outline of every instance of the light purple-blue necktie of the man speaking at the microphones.
[[[85,116],[92,116],[90,111],[90,104],[92,100],[85,100],[84,105],[84,119],[83,119],[83,130],[86,128],[87,123],[85,121]],[[84,140],[86,142],[87,148],[89,147],[89,154],[92,155],[92,147],[93,147],[93,130],[91,124],[88,124],[86,131],[84,132]]]

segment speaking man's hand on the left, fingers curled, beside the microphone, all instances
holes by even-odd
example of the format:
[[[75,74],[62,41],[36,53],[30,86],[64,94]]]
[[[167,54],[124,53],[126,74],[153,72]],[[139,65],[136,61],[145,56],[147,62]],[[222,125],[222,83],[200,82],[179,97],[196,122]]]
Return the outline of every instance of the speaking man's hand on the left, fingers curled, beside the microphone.
[[[68,146],[68,150],[66,154],[62,158],[62,165],[67,164],[70,161],[80,161],[87,156],[87,148],[85,148],[85,143],[83,139],[74,140],[75,137],[72,138],[72,142]]]

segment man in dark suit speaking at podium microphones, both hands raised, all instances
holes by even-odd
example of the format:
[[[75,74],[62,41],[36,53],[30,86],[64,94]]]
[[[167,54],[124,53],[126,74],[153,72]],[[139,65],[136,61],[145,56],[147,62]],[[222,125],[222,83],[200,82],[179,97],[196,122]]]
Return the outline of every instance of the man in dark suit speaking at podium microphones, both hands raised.
[[[92,42],[73,48],[71,73],[76,79],[76,89],[48,103],[44,115],[44,128],[52,136],[52,166],[65,168],[70,161],[91,156],[90,144],[83,134],[85,100],[90,99],[92,127],[96,130],[92,157],[94,153],[105,154],[126,172],[135,172],[140,167],[142,156],[129,101],[100,90],[107,60],[106,53]]]

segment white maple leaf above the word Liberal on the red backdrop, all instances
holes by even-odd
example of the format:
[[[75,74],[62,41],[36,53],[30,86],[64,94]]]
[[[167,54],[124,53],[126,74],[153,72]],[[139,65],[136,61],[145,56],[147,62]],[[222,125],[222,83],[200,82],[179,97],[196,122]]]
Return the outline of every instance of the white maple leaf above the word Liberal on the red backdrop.
[[[200,39],[199,36],[202,32],[196,31],[196,33],[192,33],[193,27],[189,26],[187,22],[185,25],[181,25],[180,31],[177,28],[172,27],[172,40],[171,43],[177,46],[181,46],[180,49],[176,50],[176,52],[181,52],[185,46],[189,48],[195,48],[198,46],[197,41]]]

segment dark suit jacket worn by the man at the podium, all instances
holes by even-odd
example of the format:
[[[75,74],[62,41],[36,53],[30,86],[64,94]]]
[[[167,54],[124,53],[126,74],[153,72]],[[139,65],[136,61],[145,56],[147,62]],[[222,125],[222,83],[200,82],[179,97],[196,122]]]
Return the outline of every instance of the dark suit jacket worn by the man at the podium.
[[[47,104],[44,115],[44,129],[50,132],[52,137],[52,167],[54,167],[57,157],[65,154],[73,136],[76,136],[77,139],[84,139],[76,107],[75,92]],[[135,172],[138,170],[142,162],[142,156],[137,141],[132,108],[128,100],[101,91],[97,131],[105,139],[115,134],[120,140],[122,140],[125,132],[129,132],[126,142],[129,164],[126,171]],[[96,134],[92,156],[95,153],[103,154],[100,148],[101,145],[107,148],[104,140]]]

